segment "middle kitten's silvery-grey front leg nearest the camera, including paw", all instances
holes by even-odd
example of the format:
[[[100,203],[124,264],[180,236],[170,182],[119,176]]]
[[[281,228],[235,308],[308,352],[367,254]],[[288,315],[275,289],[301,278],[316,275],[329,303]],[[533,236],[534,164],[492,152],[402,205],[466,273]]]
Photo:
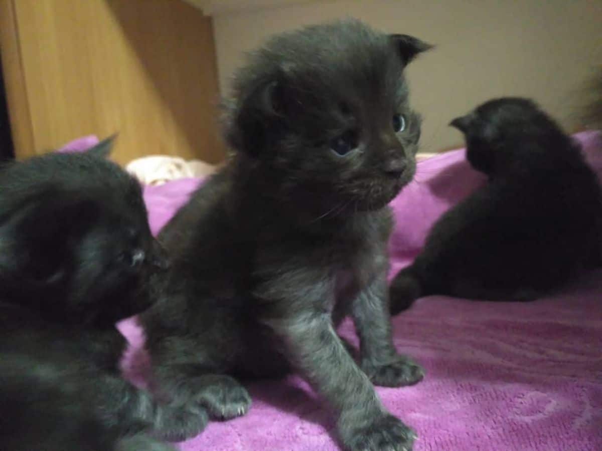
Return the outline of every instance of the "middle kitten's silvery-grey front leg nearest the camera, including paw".
[[[265,324],[284,339],[292,363],[337,412],[337,430],[346,449],[412,449],[414,431],[382,406],[337,336],[329,314],[297,311]]]

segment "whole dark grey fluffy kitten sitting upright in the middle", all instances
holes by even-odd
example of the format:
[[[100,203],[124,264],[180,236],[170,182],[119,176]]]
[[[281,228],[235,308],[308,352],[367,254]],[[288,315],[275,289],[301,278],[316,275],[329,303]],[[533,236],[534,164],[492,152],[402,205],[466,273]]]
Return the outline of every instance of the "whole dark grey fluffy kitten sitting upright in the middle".
[[[250,56],[226,111],[229,164],[160,235],[173,265],[143,315],[154,376],[217,418],[250,399],[231,375],[304,375],[347,449],[409,450],[373,385],[415,384],[388,313],[387,204],[415,171],[406,65],[429,46],[349,20],[278,35]],[[361,366],[335,332],[351,314]]]

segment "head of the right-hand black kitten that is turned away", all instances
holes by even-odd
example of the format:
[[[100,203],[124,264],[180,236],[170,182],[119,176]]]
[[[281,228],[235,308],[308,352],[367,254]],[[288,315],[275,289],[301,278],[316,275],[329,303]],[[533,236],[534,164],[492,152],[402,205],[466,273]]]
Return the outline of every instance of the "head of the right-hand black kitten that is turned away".
[[[520,97],[489,100],[450,126],[464,133],[470,164],[489,175],[518,165],[541,165],[559,148],[554,144],[566,139],[532,100]]]

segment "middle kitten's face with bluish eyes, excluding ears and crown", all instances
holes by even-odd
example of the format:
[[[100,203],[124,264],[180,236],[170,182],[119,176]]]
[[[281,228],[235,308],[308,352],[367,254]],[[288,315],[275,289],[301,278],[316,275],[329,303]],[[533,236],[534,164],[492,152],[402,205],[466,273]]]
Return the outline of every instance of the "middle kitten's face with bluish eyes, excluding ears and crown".
[[[404,93],[403,79],[397,82],[397,92]],[[287,190],[370,210],[383,207],[412,179],[420,117],[405,96],[368,85],[343,92],[329,87],[321,99],[307,101],[302,93],[293,95],[297,100],[288,103],[285,144],[276,159],[267,160],[285,174]]]

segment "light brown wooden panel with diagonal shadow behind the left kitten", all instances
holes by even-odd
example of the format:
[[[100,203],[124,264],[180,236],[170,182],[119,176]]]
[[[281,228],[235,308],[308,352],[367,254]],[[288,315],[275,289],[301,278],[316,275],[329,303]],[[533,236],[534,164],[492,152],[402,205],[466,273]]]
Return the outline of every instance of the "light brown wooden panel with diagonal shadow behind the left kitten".
[[[34,152],[119,132],[121,163],[159,153],[223,159],[212,23],[201,11],[174,0],[13,5]]]

